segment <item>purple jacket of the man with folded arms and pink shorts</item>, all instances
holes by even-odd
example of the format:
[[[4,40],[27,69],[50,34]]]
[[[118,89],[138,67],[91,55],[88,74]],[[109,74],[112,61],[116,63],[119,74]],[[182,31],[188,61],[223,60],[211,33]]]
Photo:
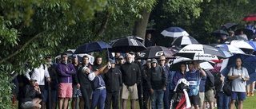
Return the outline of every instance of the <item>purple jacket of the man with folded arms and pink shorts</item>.
[[[72,83],[72,75],[76,73],[73,64],[63,63],[58,64],[57,72],[59,83]]]

